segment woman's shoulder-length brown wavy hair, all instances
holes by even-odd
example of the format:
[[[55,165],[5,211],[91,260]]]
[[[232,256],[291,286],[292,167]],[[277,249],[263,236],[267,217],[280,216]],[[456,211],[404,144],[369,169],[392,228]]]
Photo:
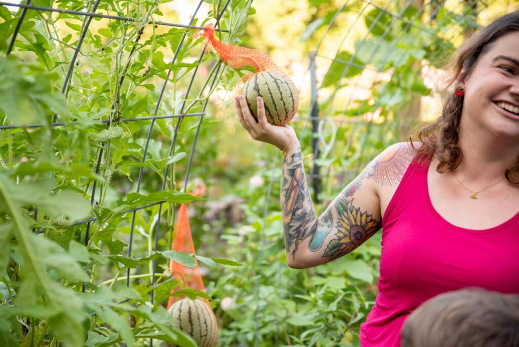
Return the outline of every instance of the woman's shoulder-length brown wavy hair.
[[[447,87],[470,75],[477,59],[487,52],[492,44],[501,36],[519,31],[519,11],[499,17],[479,33],[470,37],[458,49],[455,59],[449,66],[452,77]],[[461,162],[462,153],[458,146],[458,127],[463,109],[463,97],[449,92],[443,105],[442,115],[435,123],[426,125],[419,130],[420,148],[411,146],[418,153],[418,162],[430,161],[434,155],[440,160],[436,171],[443,173],[454,170]],[[504,176],[512,184],[519,184],[519,154],[517,163],[504,172]]]

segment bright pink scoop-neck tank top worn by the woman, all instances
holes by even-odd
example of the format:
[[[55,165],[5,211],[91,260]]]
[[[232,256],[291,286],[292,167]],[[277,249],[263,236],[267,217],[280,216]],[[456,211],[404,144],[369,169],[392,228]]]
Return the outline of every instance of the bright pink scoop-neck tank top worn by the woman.
[[[450,224],[432,206],[428,165],[409,165],[382,221],[378,296],[361,324],[362,347],[400,346],[405,318],[446,291],[519,293],[519,212],[485,230]]]

